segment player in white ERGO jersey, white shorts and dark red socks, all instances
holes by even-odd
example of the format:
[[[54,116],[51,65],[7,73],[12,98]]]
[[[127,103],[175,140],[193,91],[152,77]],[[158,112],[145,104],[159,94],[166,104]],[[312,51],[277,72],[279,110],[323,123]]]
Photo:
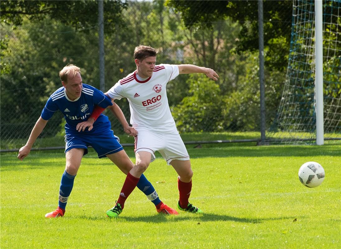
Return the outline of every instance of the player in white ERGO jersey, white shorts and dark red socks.
[[[109,217],[117,217],[122,212],[124,202],[135,188],[139,177],[155,159],[155,151],[159,151],[167,164],[172,165],[179,175],[178,208],[190,213],[202,213],[201,209],[189,203],[193,171],[190,157],[168,106],[166,86],[179,74],[204,73],[213,80],[218,80],[219,76],[213,69],[196,65],[155,65],[156,56],[157,50],[152,47],[136,47],[136,71],[119,80],[105,93],[111,99],[128,99],[130,123],[138,132],[135,136],[135,166],[127,175],[116,205],[107,211]],[[91,116],[95,118],[102,110],[96,107]],[[80,123],[79,126],[91,127],[91,121]]]

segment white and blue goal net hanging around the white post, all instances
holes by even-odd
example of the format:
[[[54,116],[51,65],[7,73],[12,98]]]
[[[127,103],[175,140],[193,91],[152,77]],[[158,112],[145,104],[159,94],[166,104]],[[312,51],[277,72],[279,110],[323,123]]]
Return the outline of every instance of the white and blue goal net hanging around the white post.
[[[323,1],[325,143],[341,143],[341,1]],[[294,0],[289,62],[270,141],[316,143],[315,6]]]

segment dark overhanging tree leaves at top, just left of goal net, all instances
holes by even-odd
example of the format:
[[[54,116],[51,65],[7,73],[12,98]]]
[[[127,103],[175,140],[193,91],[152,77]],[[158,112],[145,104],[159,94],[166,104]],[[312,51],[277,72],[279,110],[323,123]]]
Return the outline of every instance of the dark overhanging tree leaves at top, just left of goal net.
[[[230,17],[241,27],[236,43],[239,53],[258,50],[258,1],[167,1],[181,13],[184,25],[192,28],[212,28],[214,24]],[[283,60],[283,52],[289,50],[292,20],[291,1],[264,1],[264,45],[269,48],[272,59],[265,64],[270,70],[283,69],[287,58]],[[236,36],[237,37],[237,36]]]

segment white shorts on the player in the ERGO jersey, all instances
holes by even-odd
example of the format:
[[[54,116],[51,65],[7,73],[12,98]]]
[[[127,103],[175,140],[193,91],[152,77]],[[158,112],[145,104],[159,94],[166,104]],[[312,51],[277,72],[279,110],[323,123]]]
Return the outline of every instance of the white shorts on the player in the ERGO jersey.
[[[155,151],[158,151],[168,165],[174,159],[182,161],[190,159],[186,146],[178,133],[160,134],[138,130],[135,137],[135,154],[139,151],[150,152],[152,155],[150,162],[155,160]]]

